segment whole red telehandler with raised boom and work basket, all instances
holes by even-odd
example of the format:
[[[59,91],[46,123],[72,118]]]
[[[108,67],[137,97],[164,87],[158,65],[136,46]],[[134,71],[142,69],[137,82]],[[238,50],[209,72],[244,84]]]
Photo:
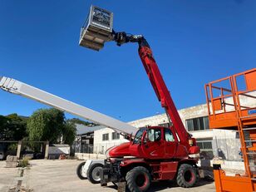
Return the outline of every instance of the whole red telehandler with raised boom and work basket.
[[[199,146],[185,130],[145,37],[114,32],[112,21],[111,12],[92,6],[81,28],[80,45],[99,51],[107,41],[115,41],[118,46],[138,43],[146,74],[173,126],[147,126],[134,137],[126,135],[129,143],[107,151],[108,158],[100,171],[101,185],[126,181],[128,189],[134,192],[148,190],[152,180],[176,180],[181,187],[191,187],[198,177]]]

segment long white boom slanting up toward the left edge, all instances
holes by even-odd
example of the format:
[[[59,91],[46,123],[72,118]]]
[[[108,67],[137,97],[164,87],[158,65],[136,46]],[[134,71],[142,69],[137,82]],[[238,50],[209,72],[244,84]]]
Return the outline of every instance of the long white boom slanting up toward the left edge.
[[[80,116],[81,118],[93,121],[96,124],[109,127],[124,134],[135,134],[135,132],[138,130],[134,126],[130,126],[125,122],[118,121],[110,116],[93,111],[85,106],[80,106],[74,102],[67,101],[59,96],[52,95],[47,91],[42,91],[34,86],[29,86],[26,83],[9,77],[0,77],[0,88],[2,88],[4,91],[39,101],[47,106],[52,106],[61,111],[66,111],[72,115]]]

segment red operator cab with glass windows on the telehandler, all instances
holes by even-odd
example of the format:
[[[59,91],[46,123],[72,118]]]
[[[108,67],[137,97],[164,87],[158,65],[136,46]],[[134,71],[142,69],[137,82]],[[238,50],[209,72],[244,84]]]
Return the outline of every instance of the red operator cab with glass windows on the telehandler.
[[[130,143],[130,155],[145,159],[170,159],[180,152],[178,144],[179,138],[172,126],[143,127],[137,131]]]

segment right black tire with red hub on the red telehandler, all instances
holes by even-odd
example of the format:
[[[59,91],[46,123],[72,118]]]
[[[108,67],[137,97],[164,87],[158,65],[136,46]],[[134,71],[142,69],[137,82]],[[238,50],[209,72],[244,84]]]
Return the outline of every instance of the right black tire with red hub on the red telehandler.
[[[180,168],[178,170],[177,174],[177,184],[180,187],[192,187],[194,186],[195,182],[197,180],[197,175],[194,167],[189,164],[182,164],[180,165]]]

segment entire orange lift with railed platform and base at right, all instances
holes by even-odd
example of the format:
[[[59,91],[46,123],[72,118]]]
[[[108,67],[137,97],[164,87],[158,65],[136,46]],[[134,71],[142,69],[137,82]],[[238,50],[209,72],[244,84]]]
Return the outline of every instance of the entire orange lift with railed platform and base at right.
[[[239,132],[244,175],[214,165],[216,191],[256,191],[256,68],[205,85],[211,129]]]

